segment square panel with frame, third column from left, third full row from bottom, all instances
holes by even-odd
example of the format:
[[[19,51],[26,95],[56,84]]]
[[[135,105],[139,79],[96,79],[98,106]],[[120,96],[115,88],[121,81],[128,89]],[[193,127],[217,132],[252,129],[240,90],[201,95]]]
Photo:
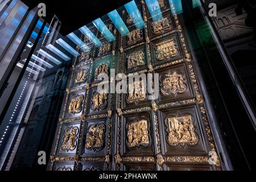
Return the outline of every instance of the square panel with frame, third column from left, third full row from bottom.
[[[123,67],[123,72],[125,72],[125,74],[147,69],[147,53],[145,45],[143,44],[142,46],[125,51],[123,60],[123,65],[125,65],[125,67]]]

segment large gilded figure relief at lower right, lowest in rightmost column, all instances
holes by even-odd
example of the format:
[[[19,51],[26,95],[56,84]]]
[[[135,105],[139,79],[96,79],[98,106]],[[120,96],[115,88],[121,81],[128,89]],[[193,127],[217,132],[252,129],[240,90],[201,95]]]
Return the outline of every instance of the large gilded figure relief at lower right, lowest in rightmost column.
[[[170,117],[167,118],[167,122],[169,130],[167,141],[171,146],[177,146],[178,144],[194,146],[199,142],[191,115]]]

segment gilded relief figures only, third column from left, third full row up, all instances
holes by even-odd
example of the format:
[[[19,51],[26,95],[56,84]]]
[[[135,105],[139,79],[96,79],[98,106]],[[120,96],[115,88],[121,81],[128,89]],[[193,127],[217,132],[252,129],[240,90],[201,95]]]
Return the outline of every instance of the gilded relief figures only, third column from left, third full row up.
[[[127,59],[127,68],[136,69],[145,64],[144,51],[135,51],[126,56]]]

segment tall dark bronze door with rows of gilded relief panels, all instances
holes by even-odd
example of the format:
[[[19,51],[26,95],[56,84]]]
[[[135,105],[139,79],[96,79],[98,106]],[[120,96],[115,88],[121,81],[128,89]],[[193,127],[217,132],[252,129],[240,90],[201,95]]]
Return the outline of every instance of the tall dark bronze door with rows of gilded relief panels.
[[[77,49],[81,56],[71,70],[49,170],[221,169],[179,18],[167,0],[159,1],[163,19],[157,22],[144,1],[138,5],[144,29],[136,29],[123,10],[129,35],[122,37],[106,20],[116,40],[109,43],[91,28],[102,46]],[[98,92],[98,75],[110,75],[110,69],[127,76],[158,73],[159,97]]]

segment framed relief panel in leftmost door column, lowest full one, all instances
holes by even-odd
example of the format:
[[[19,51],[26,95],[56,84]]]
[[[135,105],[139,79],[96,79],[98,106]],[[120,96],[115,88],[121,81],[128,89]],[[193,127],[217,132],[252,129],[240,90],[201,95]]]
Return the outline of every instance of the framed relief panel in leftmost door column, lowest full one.
[[[74,155],[77,150],[79,139],[80,122],[64,123],[59,140],[57,155]]]

